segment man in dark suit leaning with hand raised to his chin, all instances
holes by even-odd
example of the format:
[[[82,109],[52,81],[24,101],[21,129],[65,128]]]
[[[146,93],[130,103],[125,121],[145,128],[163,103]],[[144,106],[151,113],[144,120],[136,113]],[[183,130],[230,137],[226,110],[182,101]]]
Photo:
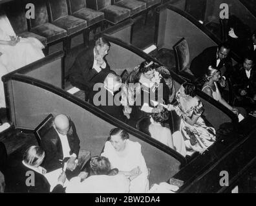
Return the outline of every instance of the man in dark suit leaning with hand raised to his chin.
[[[81,52],[68,72],[67,78],[73,86],[85,91],[88,100],[89,91],[94,84],[103,82],[110,70],[105,59],[111,44],[103,37],[95,42],[94,48]]]

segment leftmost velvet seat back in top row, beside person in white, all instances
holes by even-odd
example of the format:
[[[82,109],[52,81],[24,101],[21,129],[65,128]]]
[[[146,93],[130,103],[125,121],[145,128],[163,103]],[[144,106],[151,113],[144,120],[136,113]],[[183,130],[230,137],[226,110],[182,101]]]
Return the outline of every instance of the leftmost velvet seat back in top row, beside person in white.
[[[4,5],[3,10],[5,10],[10,24],[17,35],[27,32],[28,25],[25,17],[25,5],[21,1],[7,3]]]

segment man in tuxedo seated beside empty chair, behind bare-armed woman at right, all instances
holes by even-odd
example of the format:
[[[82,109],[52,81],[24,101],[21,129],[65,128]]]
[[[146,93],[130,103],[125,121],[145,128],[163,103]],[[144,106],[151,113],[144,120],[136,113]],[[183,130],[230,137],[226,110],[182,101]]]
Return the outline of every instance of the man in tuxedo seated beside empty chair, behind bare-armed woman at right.
[[[222,75],[227,77],[233,71],[232,61],[229,57],[230,46],[224,42],[219,46],[206,48],[202,53],[193,59],[190,70],[196,78],[204,77],[208,66],[213,66],[222,71]],[[225,71],[226,70],[226,71]]]

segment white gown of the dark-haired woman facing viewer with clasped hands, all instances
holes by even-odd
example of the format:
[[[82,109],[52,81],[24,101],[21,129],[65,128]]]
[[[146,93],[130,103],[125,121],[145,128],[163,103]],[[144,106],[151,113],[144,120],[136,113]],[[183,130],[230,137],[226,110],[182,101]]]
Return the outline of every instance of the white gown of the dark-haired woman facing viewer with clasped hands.
[[[109,158],[111,168],[117,168],[119,171],[131,171],[135,167],[140,167],[142,174],[131,181],[131,193],[145,193],[149,191],[149,180],[147,165],[144,156],[142,155],[141,145],[138,142],[127,140],[127,154],[118,156],[111,142],[105,143],[104,152],[101,156]]]

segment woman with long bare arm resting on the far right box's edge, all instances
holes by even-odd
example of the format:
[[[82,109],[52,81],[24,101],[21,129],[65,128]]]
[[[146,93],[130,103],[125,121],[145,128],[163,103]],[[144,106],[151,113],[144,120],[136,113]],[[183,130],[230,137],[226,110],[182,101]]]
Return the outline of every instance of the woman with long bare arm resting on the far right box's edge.
[[[220,79],[220,71],[213,68],[213,66],[209,66],[208,70],[206,71],[206,79],[205,79],[204,86],[202,87],[202,91],[204,91],[204,93],[208,94],[210,97],[220,102],[220,104],[223,104],[226,108],[231,110],[236,115],[239,115],[239,113],[241,113],[241,115],[245,117],[246,111],[244,109],[233,108],[228,104],[228,102],[226,102],[226,100],[224,100],[224,98],[222,98],[217,85],[217,82],[219,81],[219,79]]]

